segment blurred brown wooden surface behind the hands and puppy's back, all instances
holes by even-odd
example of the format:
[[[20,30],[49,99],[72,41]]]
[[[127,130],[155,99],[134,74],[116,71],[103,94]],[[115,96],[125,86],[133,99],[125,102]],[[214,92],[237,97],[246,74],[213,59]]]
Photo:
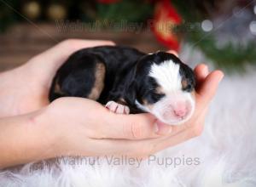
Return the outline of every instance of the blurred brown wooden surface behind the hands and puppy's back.
[[[66,38],[112,40],[118,44],[138,48],[146,53],[164,50],[150,31],[141,33],[113,31],[58,31],[54,24],[21,24],[0,34],[0,71],[25,63],[35,54]]]

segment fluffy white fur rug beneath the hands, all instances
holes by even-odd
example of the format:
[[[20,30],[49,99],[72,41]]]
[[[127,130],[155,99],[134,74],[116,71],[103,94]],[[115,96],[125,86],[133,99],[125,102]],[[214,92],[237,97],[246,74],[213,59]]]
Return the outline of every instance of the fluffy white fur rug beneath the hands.
[[[0,186],[256,186],[255,85],[255,72],[225,77],[201,137],[163,150],[139,166],[111,157],[62,158],[42,169],[27,164],[19,172],[2,171]]]

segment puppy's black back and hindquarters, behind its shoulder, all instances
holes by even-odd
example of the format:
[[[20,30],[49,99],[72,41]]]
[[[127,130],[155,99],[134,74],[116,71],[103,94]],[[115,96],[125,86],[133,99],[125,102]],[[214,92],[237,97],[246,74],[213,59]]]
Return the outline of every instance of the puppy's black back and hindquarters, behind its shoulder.
[[[129,71],[143,55],[135,48],[100,46],[72,54],[56,72],[49,101],[73,96],[97,100],[108,97],[113,82]]]

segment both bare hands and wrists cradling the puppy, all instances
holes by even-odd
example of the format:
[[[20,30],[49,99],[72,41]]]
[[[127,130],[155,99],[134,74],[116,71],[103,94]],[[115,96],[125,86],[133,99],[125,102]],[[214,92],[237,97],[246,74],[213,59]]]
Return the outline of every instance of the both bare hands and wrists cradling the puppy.
[[[224,77],[195,67],[195,113],[180,126],[151,114],[121,115],[90,99],[61,98],[49,104],[55,71],[74,51],[108,41],[67,40],[0,74],[0,167],[55,156],[147,157],[202,133],[207,108]]]

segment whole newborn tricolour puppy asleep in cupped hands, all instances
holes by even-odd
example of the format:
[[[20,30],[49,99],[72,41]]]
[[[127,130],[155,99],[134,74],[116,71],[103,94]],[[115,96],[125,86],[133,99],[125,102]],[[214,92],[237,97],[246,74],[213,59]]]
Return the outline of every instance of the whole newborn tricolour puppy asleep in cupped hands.
[[[81,49],[67,59],[55,75],[49,101],[93,99],[116,113],[150,112],[177,125],[193,114],[194,90],[194,72],[174,54],[101,46]]]

